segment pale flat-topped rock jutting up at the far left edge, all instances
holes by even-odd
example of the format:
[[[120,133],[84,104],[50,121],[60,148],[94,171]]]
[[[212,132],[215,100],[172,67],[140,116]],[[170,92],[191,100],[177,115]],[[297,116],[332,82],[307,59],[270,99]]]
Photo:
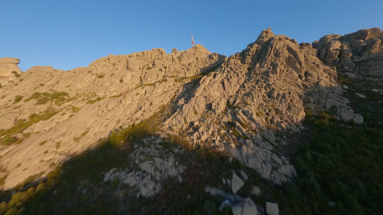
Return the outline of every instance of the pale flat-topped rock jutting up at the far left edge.
[[[0,58],[0,88],[20,76],[20,60],[13,57]]]

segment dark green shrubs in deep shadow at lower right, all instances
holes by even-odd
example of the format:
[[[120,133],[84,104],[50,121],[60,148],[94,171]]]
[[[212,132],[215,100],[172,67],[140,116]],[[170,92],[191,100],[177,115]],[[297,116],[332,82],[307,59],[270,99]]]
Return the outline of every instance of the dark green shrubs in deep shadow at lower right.
[[[365,119],[362,125],[340,121],[332,111],[306,111],[303,126],[309,130],[296,141],[300,144],[290,143],[296,146],[292,158],[298,177],[280,189],[264,188],[283,214],[381,213],[383,96],[370,90],[375,83],[358,82],[340,78],[341,84],[350,87],[345,94],[350,105]],[[367,98],[356,92],[365,92]],[[287,139],[296,138],[293,134]]]

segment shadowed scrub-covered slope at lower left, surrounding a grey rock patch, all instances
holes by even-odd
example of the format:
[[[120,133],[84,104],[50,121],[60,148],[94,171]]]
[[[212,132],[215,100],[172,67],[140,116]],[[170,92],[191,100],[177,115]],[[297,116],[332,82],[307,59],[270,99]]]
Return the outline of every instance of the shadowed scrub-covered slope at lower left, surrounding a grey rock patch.
[[[221,197],[204,192],[206,186],[223,186],[231,178],[230,169],[246,169],[239,161],[229,163],[228,155],[207,148],[191,148],[180,136],[164,138],[167,148],[182,146],[185,153],[177,157],[187,168],[182,181],[169,178],[153,197],[136,197],[132,188],[116,181],[103,182],[104,173],[112,168],[131,166],[133,145],[143,145],[143,138],[155,137],[159,116],[113,131],[100,144],[71,157],[46,177],[26,182],[9,191],[0,191],[0,213],[13,214],[218,214]],[[123,143],[121,143],[121,141]],[[252,183],[261,179],[246,170]],[[267,182],[266,182],[267,183]],[[229,192],[229,187],[224,187]],[[249,188],[246,189],[250,191]],[[13,194],[13,195],[11,195]],[[187,199],[187,195],[190,198]],[[222,213],[231,214],[229,208]]]

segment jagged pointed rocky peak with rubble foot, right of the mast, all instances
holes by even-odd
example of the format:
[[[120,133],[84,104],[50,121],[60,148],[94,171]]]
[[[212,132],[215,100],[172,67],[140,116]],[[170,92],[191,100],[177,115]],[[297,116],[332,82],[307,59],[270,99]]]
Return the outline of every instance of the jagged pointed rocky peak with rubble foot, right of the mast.
[[[341,96],[336,68],[324,65],[316,52],[310,44],[298,46],[294,39],[275,36],[268,28],[203,77],[165,126],[195,132],[196,142],[223,144],[235,158],[276,184],[288,181],[296,172],[288,158],[271,152],[278,145],[272,130],[296,130],[305,117],[306,96],[312,109],[335,107],[341,119],[363,122]],[[198,131],[191,128],[195,122]],[[237,135],[230,135],[231,127]],[[227,132],[229,137],[219,135]]]

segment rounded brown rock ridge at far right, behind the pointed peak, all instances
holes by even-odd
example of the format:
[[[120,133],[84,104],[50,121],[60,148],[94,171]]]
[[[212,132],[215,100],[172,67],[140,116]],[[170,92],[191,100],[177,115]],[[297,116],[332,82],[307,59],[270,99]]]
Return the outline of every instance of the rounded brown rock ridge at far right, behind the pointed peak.
[[[313,42],[318,58],[360,75],[383,76],[383,31],[361,29],[341,36],[328,34]]]

